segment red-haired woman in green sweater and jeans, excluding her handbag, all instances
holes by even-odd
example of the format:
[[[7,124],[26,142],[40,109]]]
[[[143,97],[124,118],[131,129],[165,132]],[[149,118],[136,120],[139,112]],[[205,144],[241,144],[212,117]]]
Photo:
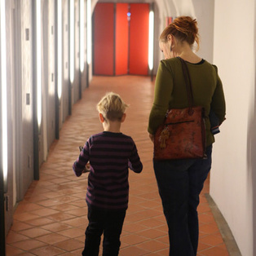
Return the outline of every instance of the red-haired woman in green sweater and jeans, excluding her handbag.
[[[181,16],[161,33],[159,46],[166,60],[157,71],[155,97],[149,117],[148,133],[154,138],[157,127],[170,108],[186,108],[188,100],[180,58],[186,61],[192,81],[194,104],[205,108],[206,159],[154,161],[157,185],[169,228],[170,255],[195,256],[198,245],[199,194],[211,167],[212,143],[209,114],[218,123],[225,120],[225,99],[217,67],[192,51],[199,45],[196,20]],[[197,47],[198,48],[198,47]]]

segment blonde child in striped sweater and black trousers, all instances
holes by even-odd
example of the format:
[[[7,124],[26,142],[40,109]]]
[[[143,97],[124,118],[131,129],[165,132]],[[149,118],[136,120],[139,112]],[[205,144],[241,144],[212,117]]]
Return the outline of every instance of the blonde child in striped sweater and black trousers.
[[[128,207],[128,167],[140,173],[143,165],[135,142],[120,131],[128,107],[119,95],[108,93],[97,105],[104,131],[86,141],[73,164],[79,177],[90,161],[86,192],[89,224],[82,255],[99,255],[100,236],[104,233],[103,255],[118,255],[120,235]]]

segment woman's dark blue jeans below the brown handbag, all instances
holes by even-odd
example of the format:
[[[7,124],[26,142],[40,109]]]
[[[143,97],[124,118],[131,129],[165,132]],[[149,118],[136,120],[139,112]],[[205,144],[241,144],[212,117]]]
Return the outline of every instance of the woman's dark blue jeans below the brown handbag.
[[[157,185],[169,229],[171,256],[196,256],[199,194],[211,167],[207,159],[154,161]]]

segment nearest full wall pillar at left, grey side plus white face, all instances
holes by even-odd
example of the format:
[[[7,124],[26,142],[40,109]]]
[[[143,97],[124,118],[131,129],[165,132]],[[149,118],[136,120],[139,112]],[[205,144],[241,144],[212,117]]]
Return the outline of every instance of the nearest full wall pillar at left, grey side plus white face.
[[[13,9],[13,119],[15,121],[15,202],[33,181],[33,19],[30,0],[15,1]],[[14,202],[14,203],[15,203]]]

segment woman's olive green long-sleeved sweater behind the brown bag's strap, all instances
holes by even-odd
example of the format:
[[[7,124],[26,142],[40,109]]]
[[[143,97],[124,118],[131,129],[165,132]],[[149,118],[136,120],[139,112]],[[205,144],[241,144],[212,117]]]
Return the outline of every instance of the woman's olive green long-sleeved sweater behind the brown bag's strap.
[[[223,85],[217,67],[207,61],[202,64],[188,63],[195,106],[205,108],[206,146],[214,143],[210,132],[209,113],[212,109],[219,124],[225,120],[226,106]],[[149,116],[148,132],[154,134],[170,108],[186,108],[188,99],[183,69],[178,58],[161,60],[157,71],[155,97]]]

